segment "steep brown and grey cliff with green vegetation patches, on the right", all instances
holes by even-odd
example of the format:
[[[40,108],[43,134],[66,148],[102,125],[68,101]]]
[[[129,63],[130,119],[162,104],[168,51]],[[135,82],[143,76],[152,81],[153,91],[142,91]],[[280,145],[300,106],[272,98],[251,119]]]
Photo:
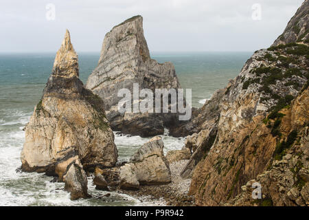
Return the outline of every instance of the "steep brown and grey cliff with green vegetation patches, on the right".
[[[293,17],[297,19],[292,19],[289,26],[301,25],[301,32],[308,33],[308,25],[303,25],[308,23],[306,11],[308,1],[297,10]],[[308,86],[309,47],[305,40],[288,40],[288,30],[284,32],[284,44],[275,43],[255,52],[240,74],[225,89],[216,91],[190,122],[198,133],[187,139],[194,153],[182,176],[192,176],[190,193],[198,205],[218,206],[231,201],[247,181],[256,179],[297,143],[301,148],[298,152],[302,152],[299,157],[308,161],[308,133],[304,132],[308,129],[308,90],[301,95],[299,92]],[[298,106],[298,101],[292,101],[296,97],[300,100]],[[308,164],[303,166],[307,172]],[[297,181],[308,181],[298,174],[295,177],[298,179],[290,188]],[[268,184],[266,181],[261,184],[263,193],[275,204],[291,204],[269,194],[266,188],[270,186],[263,186]],[[308,191],[308,184],[299,190]],[[304,204],[308,197],[299,200]]]

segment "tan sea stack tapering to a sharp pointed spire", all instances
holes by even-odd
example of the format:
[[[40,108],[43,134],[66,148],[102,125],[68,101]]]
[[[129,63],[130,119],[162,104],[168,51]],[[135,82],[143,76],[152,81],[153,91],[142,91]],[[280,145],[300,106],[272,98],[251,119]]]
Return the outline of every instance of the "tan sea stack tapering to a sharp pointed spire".
[[[77,172],[78,168],[70,165],[77,160],[82,164],[78,167],[85,170],[111,167],[117,162],[117,148],[103,101],[84,89],[78,76],[78,55],[67,31],[43,97],[25,128],[21,152],[24,171],[65,179],[68,166],[70,173]]]

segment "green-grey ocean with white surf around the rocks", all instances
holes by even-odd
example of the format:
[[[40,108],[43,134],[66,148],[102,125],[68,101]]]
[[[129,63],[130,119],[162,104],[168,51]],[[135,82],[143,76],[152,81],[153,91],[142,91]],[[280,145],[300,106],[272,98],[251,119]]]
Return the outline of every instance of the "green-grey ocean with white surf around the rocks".
[[[236,77],[252,52],[186,52],[151,53],[159,63],[171,61],[181,87],[192,89],[192,106],[201,107],[205,100]],[[89,177],[91,199],[71,201],[63,190],[64,183],[53,183],[53,177],[23,173],[20,154],[24,142],[23,127],[30,120],[34,106],[41,99],[43,88],[52,72],[55,53],[0,54],[0,206],[148,206],[128,195],[95,190]],[[98,64],[99,52],[79,54],[80,78],[86,83]],[[165,153],[183,147],[185,138],[162,135]],[[126,160],[149,138],[119,135],[115,144],[119,160]]]

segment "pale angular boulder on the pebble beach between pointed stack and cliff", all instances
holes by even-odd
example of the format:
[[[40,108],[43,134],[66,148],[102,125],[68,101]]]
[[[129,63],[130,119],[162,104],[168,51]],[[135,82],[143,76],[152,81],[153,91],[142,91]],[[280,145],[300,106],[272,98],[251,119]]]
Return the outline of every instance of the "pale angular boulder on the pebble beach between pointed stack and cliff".
[[[168,184],[171,181],[170,165],[163,155],[161,137],[152,137],[120,168],[120,187],[137,189],[139,185]]]

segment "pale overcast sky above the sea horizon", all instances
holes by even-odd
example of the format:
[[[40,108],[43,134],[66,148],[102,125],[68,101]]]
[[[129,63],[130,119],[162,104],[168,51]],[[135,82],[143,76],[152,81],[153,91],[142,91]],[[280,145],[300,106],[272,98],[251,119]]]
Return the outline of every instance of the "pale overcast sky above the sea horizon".
[[[99,52],[106,32],[140,14],[150,52],[269,47],[303,0],[0,0],[0,52],[56,52],[65,29],[77,52]],[[55,19],[48,20],[55,6]],[[261,19],[253,20],[255,3]],[[48,14],[47,14],[48,13]]]

